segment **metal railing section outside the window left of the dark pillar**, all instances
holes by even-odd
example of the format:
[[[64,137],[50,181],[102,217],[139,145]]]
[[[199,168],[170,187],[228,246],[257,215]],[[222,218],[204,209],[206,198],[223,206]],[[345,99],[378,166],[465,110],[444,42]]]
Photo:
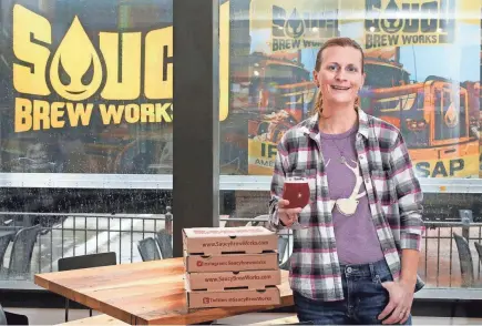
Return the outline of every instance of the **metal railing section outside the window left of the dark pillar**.
[[[164,214],[59,214],[0,213],[2,230],[13,230],[40,223],[33,247],[31,274],[57,271],[62,257],[115,252],[117,263],[141,262],[137,242],[165,227]],[[0,224],[1,225],[1,224]],[[13,241],[13,238],[12,238]],[[3,257],[8,267],[12,242]],[[30,275],[30,276],[32,276]]]

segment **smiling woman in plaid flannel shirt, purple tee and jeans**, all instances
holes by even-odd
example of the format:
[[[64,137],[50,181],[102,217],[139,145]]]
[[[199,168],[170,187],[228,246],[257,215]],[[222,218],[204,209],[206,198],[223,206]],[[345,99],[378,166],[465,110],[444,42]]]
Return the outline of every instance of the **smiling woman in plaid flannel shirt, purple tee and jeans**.
[[[422,193],[399,130],[366,114],[363,52],[347,38],[319,50],[314,116],[278,144],[270,226],[291,227],[290,285],[300,322],[411,324],[423,232]],[[286,177],[304,176],[306,207],[285,208]],[[297,227],[294,227],[298,225]]]

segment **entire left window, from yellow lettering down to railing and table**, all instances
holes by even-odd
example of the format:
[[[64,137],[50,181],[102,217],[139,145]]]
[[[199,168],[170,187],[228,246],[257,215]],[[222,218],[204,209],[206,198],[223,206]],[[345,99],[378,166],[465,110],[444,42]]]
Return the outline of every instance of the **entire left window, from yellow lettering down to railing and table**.
[[[0,281],[172,247],[172,0],[0,0]]]

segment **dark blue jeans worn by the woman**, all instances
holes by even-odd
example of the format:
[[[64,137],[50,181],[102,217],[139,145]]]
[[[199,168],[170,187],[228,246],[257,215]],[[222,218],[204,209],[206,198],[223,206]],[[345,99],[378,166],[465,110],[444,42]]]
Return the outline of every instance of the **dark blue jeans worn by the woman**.
[[[345,299],[321,302],[294,293],[295,307],[301,323],[314,325],[377,325],[378,315],[389,302],[381,283],[393,281],[387,263],[341,265]],[[403,325],[411,325],[411,316]]]

